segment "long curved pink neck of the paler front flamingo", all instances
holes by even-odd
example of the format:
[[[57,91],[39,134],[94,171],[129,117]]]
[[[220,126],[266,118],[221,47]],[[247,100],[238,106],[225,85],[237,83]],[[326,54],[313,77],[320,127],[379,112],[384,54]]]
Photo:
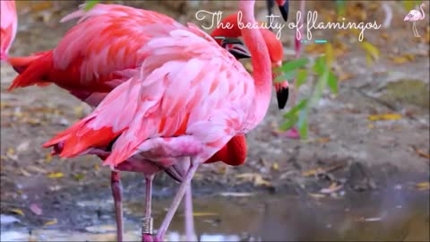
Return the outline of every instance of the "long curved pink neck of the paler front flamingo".
[[[242,22],[245,26],[248,22],[252,26],[256,23],[254,18],[254,3],[254,0],[241,1],[239,3],[239,10],[243,13]],[[251,56],[253,56],[251,62],[254,70],[255,108],[253,108],[254,111],[248,114],[250,124],[248,128],[252,129],[265,117],[271,101],[271,58],[260,30],[242,28],[241,31],[245,45],[249,48]]]

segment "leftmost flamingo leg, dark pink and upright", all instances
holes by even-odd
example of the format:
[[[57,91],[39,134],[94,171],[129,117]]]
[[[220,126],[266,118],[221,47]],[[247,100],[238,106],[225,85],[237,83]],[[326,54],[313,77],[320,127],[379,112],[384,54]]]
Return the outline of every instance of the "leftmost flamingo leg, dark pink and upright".
[[[112,188],[112,195],[114,196],[115,216],[116,216],[116,240],[123,241],[123,186],[121,185],[121,178],[118,171],[111,171],[110,173],[110,186]]]

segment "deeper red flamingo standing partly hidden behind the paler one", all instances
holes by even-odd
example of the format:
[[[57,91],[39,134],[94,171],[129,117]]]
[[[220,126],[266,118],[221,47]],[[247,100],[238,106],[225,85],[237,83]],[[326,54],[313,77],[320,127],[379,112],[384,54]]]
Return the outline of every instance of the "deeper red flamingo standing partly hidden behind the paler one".
[[[91,106],[97,106],[109,91],[125,82],[133,72],[138,72],[138,67],[146,58],[141,56],[138,50],[148,42],[151,35],[148,31],[139,31],[140,28],[145,24],[174,23],[174,20],[166,15],[122,5],[97,4],[89,13],[81,10],[69,14],[63,21],[77,17],[82,18],[78,25],[68,31],[54,50],[8,59],[15,70],[21,73],[13,81],[9,91],[16,87],[55,82],[75,97]],[[128,41],[130,39],[134,41]],[[125,40],[127,45],[124,45]],[[246,56],[244,49],[236,44],[229,45],[228,48],[234,54]],[[113,61],[105,63],[105,59]],[[228,144],[228,151],[244,151],[242,146],[245,147],[245,138],[238,137],[237,141],[233,142],[232,139],[232,143]],[[59,144],[54,153],[61,150]],[[104,159],[107,153],[95,152],[101,159]],[[223,154],[224,156],[215,154],[214,158],[226,160],[226,163],[231,160],[233,165],[245,161],[245,153],[236,154],[243,157],[242,160],[232,160],[226,156],[227,153]],[[181,178],[175,169],[167,171],[172,177]],[[148,175],[146,179],[147,194],[150,194],[152,176]],[[119,172],[116,170],[111,172],[111,187],[116,208],[117,239],[122,240],[122,186]],[[145,213],[150,214],[150,195],[147,196],[147,207]]]

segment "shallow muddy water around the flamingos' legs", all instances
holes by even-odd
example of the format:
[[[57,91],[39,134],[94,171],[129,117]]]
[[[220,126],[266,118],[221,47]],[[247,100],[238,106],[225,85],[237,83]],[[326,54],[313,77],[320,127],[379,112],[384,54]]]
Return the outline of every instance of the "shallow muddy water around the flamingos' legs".
[[[112,203],[84,201],[84,209]],[[125,240],[139,240],[142,201],[125,203]],[[154,200],[154,227],[159,226],[169,201]],[[340,193],[328,198],[252,194],[244,197],[213,195],[194,198],[194,223],[200,241],[266,240],[401,240],[429,239],[428,191],[404,187],[366,194]],[[10,216],[10,215],[7,215]],[[75,215],[71,216],[82,216]],[[28,229],[6,224],[2,217],[2,241],[112,241],[114,218],[95,220],[85,229],[49,227]],[[10,219],[10,218],[9,218]],[[18,218],[19,219],[19,218]],[[182,208],[173,220],[168,241],[184,240]],[[54,229],[55,228],[55,229]]]

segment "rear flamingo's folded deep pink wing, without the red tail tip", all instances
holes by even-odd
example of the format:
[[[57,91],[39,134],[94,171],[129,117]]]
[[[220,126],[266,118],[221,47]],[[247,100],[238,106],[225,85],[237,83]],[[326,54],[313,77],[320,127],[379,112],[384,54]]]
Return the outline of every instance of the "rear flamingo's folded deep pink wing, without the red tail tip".
[[[117,4],[96,4],[88,12],[70,13],[62,22],[75,18],[80,18],[78,24],[54,50],[54,63],[59,69],[78,69],[82,82],[110,81],[114,74],[123,74],[112,70],[142,64],[145,56],[138,55],[138,50],[152,38],[142,27],[158,22],[178,25],[167,15]]]

